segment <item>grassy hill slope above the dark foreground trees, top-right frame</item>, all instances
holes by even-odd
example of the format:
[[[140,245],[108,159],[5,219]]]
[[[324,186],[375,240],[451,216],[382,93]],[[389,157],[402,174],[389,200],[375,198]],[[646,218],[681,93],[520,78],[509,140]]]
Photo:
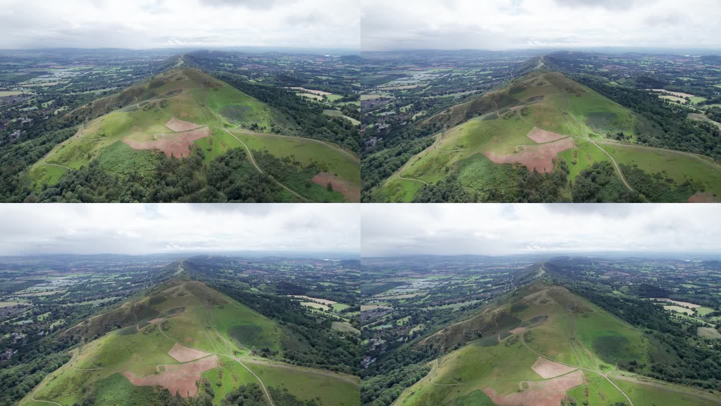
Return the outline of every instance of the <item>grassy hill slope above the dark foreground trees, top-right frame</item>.
[[[392,202],[412,201],[423,186],[456,176],[462,188],[481,198],[493,191],[499,196],[491,199],[513,201],[514,168],[551,173],[559,160],[570,180],[606,161],[629,191],[642,186],[627,179],[636,165],[651,174],[664,170],[676,185],[696,181],[682,199],[699,190],[721,193],[720,165],[701,155],[632,144],[641,118],[563,74],[547,72],[544,59],[534,64],[507,87],[423,121],[420,126],[438,131],[435,142],[386,180],[384,195]]]

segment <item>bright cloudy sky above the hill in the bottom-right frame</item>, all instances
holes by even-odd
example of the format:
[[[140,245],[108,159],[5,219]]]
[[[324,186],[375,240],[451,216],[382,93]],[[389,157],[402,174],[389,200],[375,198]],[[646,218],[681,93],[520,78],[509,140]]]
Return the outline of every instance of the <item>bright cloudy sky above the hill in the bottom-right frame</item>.
[[[363,256],[721,253],[719,204],[362,204]]]

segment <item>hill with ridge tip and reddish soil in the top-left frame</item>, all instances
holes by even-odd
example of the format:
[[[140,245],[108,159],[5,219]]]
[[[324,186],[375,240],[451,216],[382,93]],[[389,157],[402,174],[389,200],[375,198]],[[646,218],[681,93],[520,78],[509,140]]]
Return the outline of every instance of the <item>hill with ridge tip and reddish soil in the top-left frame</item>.
[[[229,186],[205,180],[201,168],[238,149],[246,155],[240,156],[242,167],[233,168],[239,176],[261,176],[274,189],[271,196],[256,195],[256,201],[359,201],[358,157],[335,144],[328,129],[308,134],[279,108],[199,69],[183,67],[182,58],[172,61],[177,67],[66,113],[68,121],[80,123],[79,131],[28,171],[40,199],[48,187],[61,189],[61,194],[74,189],[61,179],[92,165],[103,175],[133,178],[131,183],[149,187],[143,181],[172,172],[163,168],[164,160],[188,160],[193,154],[202,163],[185,163],[192,173],[186,181],[200,183],[195,188],[200,194],[210,189],[201,187],[207,182],[212,193],[237,199]],[[299,132],[313,138],[298,137]],[[149,194],[138,200],[158,199]]]

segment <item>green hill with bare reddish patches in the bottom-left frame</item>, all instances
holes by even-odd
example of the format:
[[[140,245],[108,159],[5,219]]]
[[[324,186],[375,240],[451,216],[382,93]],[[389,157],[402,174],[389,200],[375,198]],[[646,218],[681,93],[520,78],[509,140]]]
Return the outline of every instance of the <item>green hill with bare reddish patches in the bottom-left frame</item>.
[[[84,345],[21,405],[164,405],[177,404],[172,403],[176,395],[220,405],[240,386],[255,388],[267,405],[288,404],[288,397],[314,405],[359,404],[355,376],[296,366],[280,355],[260,356],[307,343],[193,280],[182,264],[143,296],[70,327],[61,337]]]

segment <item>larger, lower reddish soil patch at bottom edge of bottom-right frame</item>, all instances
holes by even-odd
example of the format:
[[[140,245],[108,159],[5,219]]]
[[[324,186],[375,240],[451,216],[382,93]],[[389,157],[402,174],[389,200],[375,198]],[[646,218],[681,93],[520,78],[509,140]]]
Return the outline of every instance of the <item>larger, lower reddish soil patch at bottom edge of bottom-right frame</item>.
[[[564,376],[548,379],[546,381],[526,381],[528,389],[523,392],[498,394],[495,390],[487,388],[483,392],[500,406],[558,406],[566,397],[566,391],[574,386],[585,383],[583,371],[580,369]]]

